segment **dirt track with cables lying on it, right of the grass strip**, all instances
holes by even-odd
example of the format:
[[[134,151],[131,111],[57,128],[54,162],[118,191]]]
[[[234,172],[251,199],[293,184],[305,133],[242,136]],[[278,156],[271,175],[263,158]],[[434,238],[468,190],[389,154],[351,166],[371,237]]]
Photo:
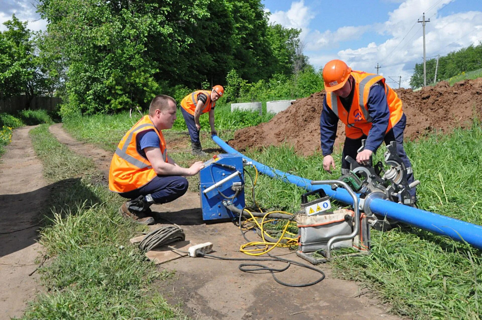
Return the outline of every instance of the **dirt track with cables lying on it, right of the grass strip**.
[[[103,162],[100,168],[108,168],[110,155],[99,157],[103,153],[97,148],[72,143],[60,125],[53,126],[51,132],[59,141],[70,141],[67,145],[73,151],[89,157],[93,154],[96,162]],[[169,146],[169,141],[167,143]],[[239,246],[245,243],[239,229],[232,223],[205,224],[199,205],[199,195],[187,192],[178,200],[154,205],[152,209],[164,213],[167,221],[183,227],[187,240],[211,241],[215,254],[220,256],[246,257],[239,252]],[[257,240],[255,235],[249,238]],[[284,257],[304,262],[294,253]],[[355,282],[332,277],[329,264],[321,266],[326,279],[306,288],[282,286],[269,273],[244,273],[238,265],[237,261],[207,258],[177,259],[160,265],[160,269],[175,270],[176,276],[169,283],[160,283],[159,290],[169,302],[181,303],[183,310],[194,319],[400,319],[388,315],[375,299],[360,292]],[[300,267],[278,274],[280,280],[290,283],[313,281],[318,276]]]

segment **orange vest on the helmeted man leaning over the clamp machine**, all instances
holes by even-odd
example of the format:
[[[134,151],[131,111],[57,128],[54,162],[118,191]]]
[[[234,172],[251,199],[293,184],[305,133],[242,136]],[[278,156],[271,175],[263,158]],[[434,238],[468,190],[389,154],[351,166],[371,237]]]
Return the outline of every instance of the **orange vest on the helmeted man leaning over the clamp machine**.
[[[382,81],[385,86],[385,94],[387,95],[388,110],[390,111],[390,119],[388,121],[387,132],[397,122],[402,119],[402,100],[397,93],[391,89],[385,78],[373,73],[366,73],[363,71],[351,71],[351,76],[355,79],[355,93],[353,93],[353,101],[350,109],[347,111],[343,107],[340,98],[332,92],[326,93],[326,104],[330,107],[335,115],[343,123],[345,123],[345,133],[350,139],[358,139],[362,134],[368,135],[372,128],[372,118],[368,113],[368,95],[370,88],[375,83]]]

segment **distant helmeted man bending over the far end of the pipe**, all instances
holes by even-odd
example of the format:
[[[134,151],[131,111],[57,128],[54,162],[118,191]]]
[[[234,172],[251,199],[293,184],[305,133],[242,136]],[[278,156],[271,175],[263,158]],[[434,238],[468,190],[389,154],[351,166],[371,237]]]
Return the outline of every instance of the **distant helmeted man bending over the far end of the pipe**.
[[[199,116],[202,113],[209,112],[209,125],[211,126],[211,134],[217,134],[214,129],[214,107],[216,101],[223,96],[224,88],[220,85],[215,85],[212,91],[198,90],[189,93],[181,101],[181,111],[186,120],[187,131],[191,137],[191,153],[195,156],[205,156],[206,153],[202,151],[201,141],[199,140]]]

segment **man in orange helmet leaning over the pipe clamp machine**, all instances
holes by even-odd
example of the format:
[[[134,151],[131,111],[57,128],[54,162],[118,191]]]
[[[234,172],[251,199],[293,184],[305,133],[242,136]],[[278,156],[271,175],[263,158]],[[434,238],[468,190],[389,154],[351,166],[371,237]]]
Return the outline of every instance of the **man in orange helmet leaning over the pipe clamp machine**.
[[[323,68],[326,95],[320,117],[321,151],[323,169],[335,169],[333,144],[338,120],[345,123],[345,145],[343,147],[341,172],[347,174],[350,156],[360,164],[372,165],[372,154],[385,141],[397,142],[397,154],[407,169],[407,181],[414,181],[412,164],[403,149],[403,130],[406,117],[402,100],[377,74],[351,70],[341,60],[332,60]],[[362,140],[366,139],[362,147]],[[410,189],[415,204],[415,187]]]

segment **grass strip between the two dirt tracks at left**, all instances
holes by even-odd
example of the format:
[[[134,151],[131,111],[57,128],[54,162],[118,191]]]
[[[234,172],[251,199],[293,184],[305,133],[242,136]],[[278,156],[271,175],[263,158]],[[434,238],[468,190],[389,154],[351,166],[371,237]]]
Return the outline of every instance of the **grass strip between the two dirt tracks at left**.
[[[60,144],[48,125],[31,131],[34,149],[52,183],[50,214],[40,232],[51,263],[40,268],[46,293],[25,319],[182,319],[152,283],[158,272],[128,240],[142,227],[118,213],[119,196],[99,184],[94,163]]]

